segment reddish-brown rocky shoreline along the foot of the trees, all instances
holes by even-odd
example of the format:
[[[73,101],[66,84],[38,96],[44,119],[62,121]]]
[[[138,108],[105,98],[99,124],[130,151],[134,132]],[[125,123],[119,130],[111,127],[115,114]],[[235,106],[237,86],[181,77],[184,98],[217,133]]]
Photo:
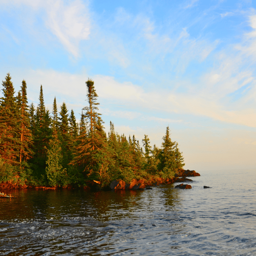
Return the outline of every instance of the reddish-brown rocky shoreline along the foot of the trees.
[[[150,180],[132,179],[132,181],[129,183],[126,183],[123,180],[113,180],[111,184],[108,187],[103,188],[103,190],[144,190],[144,189],[150,189],[150,187],[159,186],[160,184],[172,184],[175,182],[186,182],[186,181],[191,182],[193,180],[187,179],[186,177],[195,177],[195,176],[200,176],[200,174],[197,173],[196,171],[180,169],[175,174],[175,177],[172,177],[170,179],[152,177],[152,179]],[[183,186],[182,188],[189,188],[189,186],[190,185],[187,185],[187,187]],[[19,183],[12,183],[11,181],[6,181],[6,182],[2,181],[2,183],[0,183],[0,191],[5,189],[29,189],[29,188],[30,189],[60,189],[59,187],[45,187],[45,186],[36,187],[36,186],[31,186],[29,184],[25,185],[25,184],[19,184]],[[68,185],[61,189],[74,189],[74,188],[78,188],[78,186]],[[83,189],[99,191],[101,190],[101,184],[97,180],[91,180],[87,182],[87,185],[84,186]]]

